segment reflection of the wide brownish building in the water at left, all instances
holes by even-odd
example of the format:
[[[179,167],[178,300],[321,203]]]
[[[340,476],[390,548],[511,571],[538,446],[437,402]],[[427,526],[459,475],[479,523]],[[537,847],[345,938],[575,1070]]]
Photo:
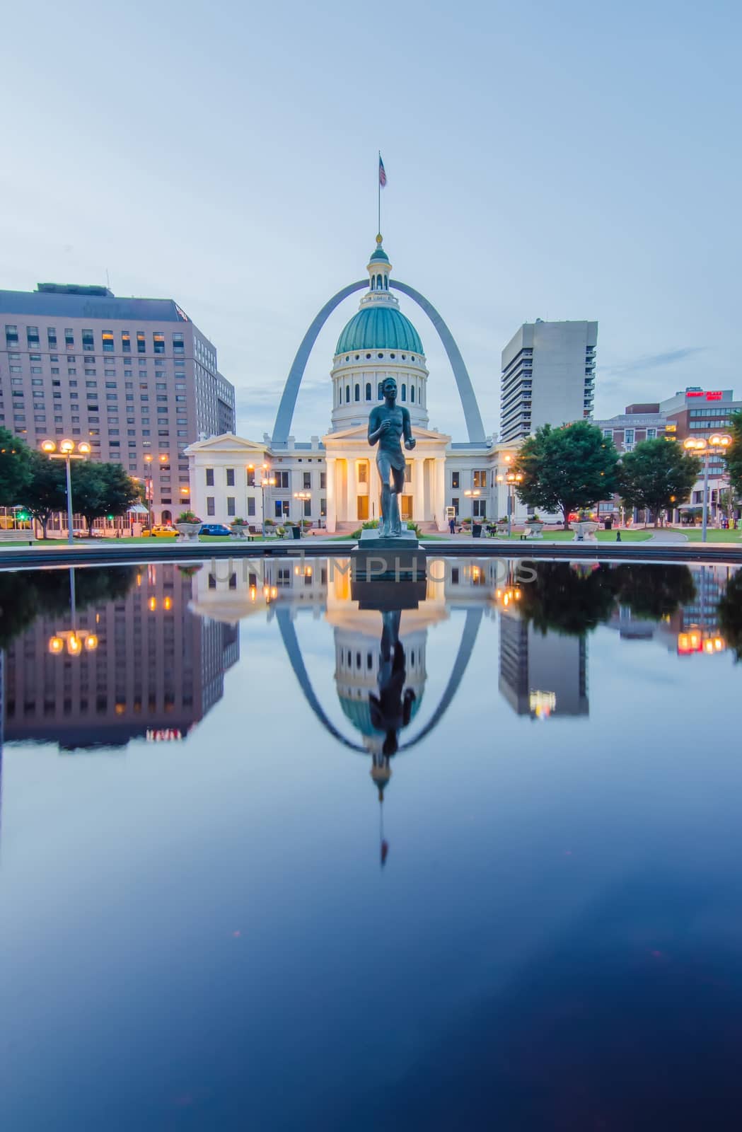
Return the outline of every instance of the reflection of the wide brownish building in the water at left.
[[[7,649],[6,740],[74,751],[183,739],[222,697],[240,648],[235,629],[189,611],[193,569],[132,568],[128,592],[93,595],[75,625],[67,603],[42,612]],[[79,594],[88,578],[75,573]],[[54,651],[72,628],[95,645]]]

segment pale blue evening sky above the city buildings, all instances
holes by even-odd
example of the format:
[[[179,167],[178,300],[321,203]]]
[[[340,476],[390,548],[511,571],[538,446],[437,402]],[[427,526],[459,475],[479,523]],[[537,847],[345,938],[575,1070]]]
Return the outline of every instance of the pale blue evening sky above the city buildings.
[[[238,431],[273,430],[299,343],[385,248],[456,337],[488,434],[524,321],[597,319],[595,415],[737,359],[742,9],[710,0],[270,6],[41,0],[3,16],[0,288],[173,298],[215,343]],[[8,49],[11,45],[11,50]],[[335,342],[292,431],[329,426]],[[434,428],[465,439],[411,300]]]

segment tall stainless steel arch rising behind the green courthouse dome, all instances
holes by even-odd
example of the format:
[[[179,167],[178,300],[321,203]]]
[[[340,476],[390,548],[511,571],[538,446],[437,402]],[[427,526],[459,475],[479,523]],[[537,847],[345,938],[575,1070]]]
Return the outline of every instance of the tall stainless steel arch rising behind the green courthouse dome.
[[[285,445],[288,439],[291,422],[294,417],[294,409],[296,408],[296,397],[299,396],[299,387],[301,385],[301,379],[304,376],[304,369],[307,368],[309,355],[312,352],[314,343],[317,342],[319,332],[335,308],[339,306],[344,299],[347,299],[347,297],[353,294],[354,291],[362,291],[364,288],[368,288],[368,280],[359,280],[357,283],[350,283],[347,286],[343,288],[342,291],[338,291],[337,294],[334,294],[333,298],[325,303],[319,314],[312,319],[312,323],[302,338],[299,350],[296,351],[296,357],[294,358],[292,367],[288,370],[288,377],[286,378],[284,392],[281,396],[281,403],[278,405],[278,412],[276,413],[276,422],[273,427],[271,437],[271,444],[277,447]],[[443,349],[448,355],[448,360],[451,363],[451,369],[454,370],[458,395],[461,398],[461,409],[464,410],[464,420],[466,421],[466,431],[468,434],[469,441],[483,444],[485,437],[480,406],[476,403],[476,395],[474,393],[472,379],[468,375],[466,366],[464,365],[461,351],[457,346],[454,335],[433,307],[432,302],[425,299],[420,291],[415,291],[415,289],[408,286],[407,283],[400,283],[398,280],[391,278],[389,280],[389,286],[396,288],[397,291],[402,291],[403,294],[409,295],[409,298],[417,303],[421,310],[428,315],[431,323],[435,327],[438,336],[440,337]]]

